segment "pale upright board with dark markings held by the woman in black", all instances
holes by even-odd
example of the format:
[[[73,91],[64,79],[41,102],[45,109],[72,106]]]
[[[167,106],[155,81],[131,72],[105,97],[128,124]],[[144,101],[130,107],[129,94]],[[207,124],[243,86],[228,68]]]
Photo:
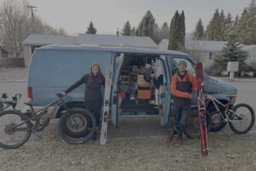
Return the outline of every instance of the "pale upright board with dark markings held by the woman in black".
[[[101,144],[105,145],[107,141],[107,130],[108,130],[108,114],[109,114],[109,102],[110,102],[110,92],[112,81],[112,67],[108,66],[106,69],[105,77],[105,93],[103,102],[103,113],[102,113],[102,131],[101,131]]]

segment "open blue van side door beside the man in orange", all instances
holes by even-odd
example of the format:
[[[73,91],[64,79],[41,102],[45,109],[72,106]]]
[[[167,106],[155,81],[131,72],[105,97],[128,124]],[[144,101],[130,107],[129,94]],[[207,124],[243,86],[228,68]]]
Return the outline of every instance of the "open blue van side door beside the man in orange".
[[[160,67],[158,69],[163,75],[163,83],[159,88],[160,125],[166,127],[169,123],[172,104],[170,92],[171,74],[168,69],[169,66],[165,55],[160,55],[157,67]]]

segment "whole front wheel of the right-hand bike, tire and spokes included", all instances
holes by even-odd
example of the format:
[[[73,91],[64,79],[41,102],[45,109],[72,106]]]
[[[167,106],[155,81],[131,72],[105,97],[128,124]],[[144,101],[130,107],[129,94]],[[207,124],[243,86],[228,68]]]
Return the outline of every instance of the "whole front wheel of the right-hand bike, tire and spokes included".
[[[242,108],[247,110],[247,116],[246,116],[246,113],[243,113],[243,112],[240,113]],[[229,123],[232,131],[234,131],[236,134],[246,134],[248,131],[250,131],[253,128],[253,124],[255,122],[255,114],[254,114],[253,108],[250,105],[241,103],[241,104],[235,105],[232,111],[236,112],[236,114],[235,115],[233,114],[230,118],[231,120],[233,120],[233,122]],[[243,118],[245,118],[245,120],[241,121],[241,119]],[[234,122],[237,120],[241,121],[241,123]],[[247,122],[247,125],[245,125],[246,122]],[[244,128],[239,129],[241,128],[241,126],[244,126]]]

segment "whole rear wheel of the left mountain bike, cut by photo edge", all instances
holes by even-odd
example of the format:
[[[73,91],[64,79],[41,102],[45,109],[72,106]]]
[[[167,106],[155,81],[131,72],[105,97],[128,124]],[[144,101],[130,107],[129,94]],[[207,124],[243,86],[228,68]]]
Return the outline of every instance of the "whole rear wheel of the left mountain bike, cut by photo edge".
[[[9,110],[2,111],[0,113],[0,146],[5,149],[15,149],[20,145],[26,143],[32,134],[32,123],[27,121],[20,125],[18,128],[25,128],[25,131],[14,130],[12,127],[23,123],[28,117],[20,111]],[[20,134],[19,134],[20,133]],[[21,134],[24,133],[24,134]],[[5,137],[7,135],[7,137]],[[12,137],[12,141],[15,140],[14,135],[20,138],[17,142],[6,142]],[[16,137],[16,138],[17,138]]]

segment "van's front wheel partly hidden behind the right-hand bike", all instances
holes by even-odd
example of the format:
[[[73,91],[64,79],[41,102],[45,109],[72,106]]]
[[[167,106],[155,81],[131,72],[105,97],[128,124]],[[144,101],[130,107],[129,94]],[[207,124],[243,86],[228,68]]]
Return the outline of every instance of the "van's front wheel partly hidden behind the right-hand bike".
[[[209,115],[211,118],[212,132],[218,132],[226,126],[227,122],[224,122],[224,119],[221,117],[220,111],[213,111]]]

